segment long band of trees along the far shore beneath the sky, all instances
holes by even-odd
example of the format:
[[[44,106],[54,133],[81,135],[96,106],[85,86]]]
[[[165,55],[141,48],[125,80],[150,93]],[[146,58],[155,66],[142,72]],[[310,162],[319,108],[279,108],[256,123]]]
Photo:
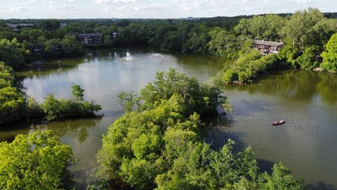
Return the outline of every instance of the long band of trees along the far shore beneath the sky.
[[[0,20],[0,60],[17,69],[37,58],[73,56],[84,51],[79,34],[100,33],[102,44],[95,47],[143,45],[233,61],[239,58],[247,39],[283,41],[282,63],[312,69],[322,62],[319,55],[337,32],[336,18],[336,13],[308,8],[293,14],[190,20]],[[32,26],[13,29],[6,23]]]

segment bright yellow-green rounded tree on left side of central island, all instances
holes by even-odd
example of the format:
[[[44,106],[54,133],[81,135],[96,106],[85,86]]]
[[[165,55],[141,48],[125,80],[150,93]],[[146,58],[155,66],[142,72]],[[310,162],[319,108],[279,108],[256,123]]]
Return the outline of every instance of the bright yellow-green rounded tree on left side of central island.
[[[110,126],[98,153],[102,172],[119,175],[138,189],[154,188],[154,178],[164,164],[160,158],[162,136],[167,127],[183,119],[184,111],[183,99],[177,94],[157,103],[151,110],[125,113]]]

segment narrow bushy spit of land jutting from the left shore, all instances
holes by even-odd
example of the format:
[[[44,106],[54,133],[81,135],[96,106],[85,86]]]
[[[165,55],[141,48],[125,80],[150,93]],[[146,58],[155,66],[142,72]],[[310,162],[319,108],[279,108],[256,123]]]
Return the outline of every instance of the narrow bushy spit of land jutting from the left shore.
[[[72,85],[74,99],[56,99],[49,94],[41,105],[34,98],[26,97],[14,85],[13,69],[0,62],[0,125],[19,120],[65,120],[88,118],[101,110],[100,105],[84,101],[84,89]]]

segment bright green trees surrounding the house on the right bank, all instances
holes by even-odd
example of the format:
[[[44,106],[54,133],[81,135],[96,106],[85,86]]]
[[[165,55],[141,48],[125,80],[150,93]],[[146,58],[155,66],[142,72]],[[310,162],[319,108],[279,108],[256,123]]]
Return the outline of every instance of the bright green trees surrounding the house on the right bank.
[[[258,51],[247,51],[247,46],[243,46],[241,51],[244,53],[239,53],[237,60],[217,75],[216,83],[245,84],[252,82],[259,74],[282,68],[312,70],[322,67],[324,70],[336,70],[333,59],[329,59],[333,53],[326,54],[322,51],[330,37],[331,43],[326,44],[324,52],[337,49],[332,35],[337,32],[337,20],[324,18],[324,14],[317,8],[297,11],[289,19],[278,15],[256,15],[240,20],[234,31],[242,39],[283,39],[285,44],[279,53],[267,56],[259,56]],[[321,53],[325,60],[323,63]]]

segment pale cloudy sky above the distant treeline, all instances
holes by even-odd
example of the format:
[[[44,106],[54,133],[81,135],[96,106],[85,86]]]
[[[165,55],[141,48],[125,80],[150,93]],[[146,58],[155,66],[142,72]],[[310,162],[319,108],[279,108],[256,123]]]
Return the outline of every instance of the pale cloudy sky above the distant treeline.
[[[0,0],[0,18],[187,18],[337,12],[337,0]]]

